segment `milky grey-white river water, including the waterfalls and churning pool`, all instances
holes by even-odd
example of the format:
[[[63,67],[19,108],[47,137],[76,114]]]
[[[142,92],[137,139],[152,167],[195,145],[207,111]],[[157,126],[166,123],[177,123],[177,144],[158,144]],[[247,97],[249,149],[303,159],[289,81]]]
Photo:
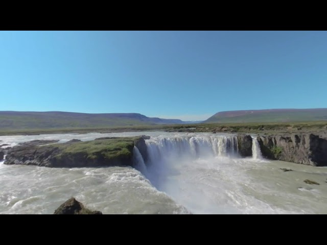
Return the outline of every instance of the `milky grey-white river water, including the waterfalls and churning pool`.
[[[151,138],[146,161],[133,150],[136,169],[0,162],[0,214],[50,214],[71,197],[105,214],[327,213],[327,168],[264,160],[255,139],[249,158],[239,157],[235,136],[209,133],[0,136],[0,144],[137,135]],[[320,185],[306,184],[306,179]]]

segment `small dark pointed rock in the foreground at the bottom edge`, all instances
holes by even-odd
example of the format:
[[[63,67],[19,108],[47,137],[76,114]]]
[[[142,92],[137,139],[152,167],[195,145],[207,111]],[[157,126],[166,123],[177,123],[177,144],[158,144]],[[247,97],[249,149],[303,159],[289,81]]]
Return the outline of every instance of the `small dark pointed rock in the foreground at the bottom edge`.
[[[91,211],[85,208],[82,203],[76,201],[75,198],[71,198],[61,204],[54,214],[102,214],[102,212]]]

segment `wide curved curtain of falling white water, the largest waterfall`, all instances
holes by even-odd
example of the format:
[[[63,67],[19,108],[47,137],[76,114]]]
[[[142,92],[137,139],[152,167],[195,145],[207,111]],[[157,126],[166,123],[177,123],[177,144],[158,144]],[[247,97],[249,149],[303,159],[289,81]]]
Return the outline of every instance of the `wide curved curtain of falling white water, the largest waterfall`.
[[[158,189],[162,189],[169,176],[178,174],[177,165],[196,159],[238,156],[236,136],[159,136],[146,140],[146,145],[147,173],[142,173]]]

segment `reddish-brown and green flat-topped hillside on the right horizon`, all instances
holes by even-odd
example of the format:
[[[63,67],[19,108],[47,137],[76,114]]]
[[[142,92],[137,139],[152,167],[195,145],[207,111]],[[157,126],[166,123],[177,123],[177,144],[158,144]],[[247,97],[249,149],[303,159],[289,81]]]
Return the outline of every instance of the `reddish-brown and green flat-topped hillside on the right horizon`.
[[[288,122],[288,121],[318,121],[327,120],[327,108],[319,109],[269,109],[269,110],[244,110],[222,111],[206,122]]]

